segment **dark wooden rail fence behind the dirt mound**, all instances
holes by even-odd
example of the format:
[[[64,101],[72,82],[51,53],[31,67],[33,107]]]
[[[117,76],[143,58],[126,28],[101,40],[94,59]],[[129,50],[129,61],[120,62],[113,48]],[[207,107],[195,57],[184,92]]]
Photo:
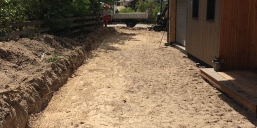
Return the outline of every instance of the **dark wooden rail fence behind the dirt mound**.
[[[70,25],[70,28],[75,28],[79,26],[94,26],[96,23],[102,23],[102,17],[100,16],[88,16],[88,17],[72,17],[72,18],[64,18],[59,20],[66,20],[70,21],[72,24]],[[84,21],[86,20],[86,22]],[[39,26],[39,27],[31,27],[32,29],[29,29],[28,26]],[[43,27],[47,26],[47,27]],[[17,31],[8,32],[6,33],[5,37],[14,37],[14,36],[23,36],[27,34],[34,34],[34,33],[40,33],[40,32],[47,32],[51,30],[49,27],[49,23],[46,20],[36,20],[36,21],[26,21],[26,22],[18,22],[18,23],[7,23],[7,24],[0,24],[0,29],[2,28],[8,28],[8,27],[16,27],[19,28]],[[24,28],[26,27],[26,30]],[[72,29],[70,32],[79,32],[81,31],[81,28]]]

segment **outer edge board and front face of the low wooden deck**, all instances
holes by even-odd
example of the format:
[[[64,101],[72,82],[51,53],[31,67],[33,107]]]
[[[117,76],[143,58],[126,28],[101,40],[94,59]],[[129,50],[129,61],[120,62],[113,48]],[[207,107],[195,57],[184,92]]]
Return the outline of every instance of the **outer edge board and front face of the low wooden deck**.
[[[201,69],[200,72],[201,76],[212,83],[214,87],[225,92],[228,96],[245,106],[252,113],[257,114],[257,97],[244,92],[240,87],[237,87],[228,79],[219,75],[212,68]]]

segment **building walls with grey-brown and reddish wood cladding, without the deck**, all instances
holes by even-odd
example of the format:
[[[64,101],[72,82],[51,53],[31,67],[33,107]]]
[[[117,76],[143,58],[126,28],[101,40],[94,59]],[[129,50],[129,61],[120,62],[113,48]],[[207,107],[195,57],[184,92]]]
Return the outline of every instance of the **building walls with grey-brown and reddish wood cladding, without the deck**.
[[[168,42],[212,65],[215,56],[225,69],[257,66],[256,0],[170,0]]]

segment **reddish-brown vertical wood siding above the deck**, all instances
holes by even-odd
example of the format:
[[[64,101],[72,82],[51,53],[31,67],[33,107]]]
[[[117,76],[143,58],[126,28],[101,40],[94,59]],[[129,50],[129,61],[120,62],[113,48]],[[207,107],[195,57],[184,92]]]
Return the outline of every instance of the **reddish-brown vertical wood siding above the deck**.
[[[257,1],[223,0],[220,57],[225,68],[257,66]]]

